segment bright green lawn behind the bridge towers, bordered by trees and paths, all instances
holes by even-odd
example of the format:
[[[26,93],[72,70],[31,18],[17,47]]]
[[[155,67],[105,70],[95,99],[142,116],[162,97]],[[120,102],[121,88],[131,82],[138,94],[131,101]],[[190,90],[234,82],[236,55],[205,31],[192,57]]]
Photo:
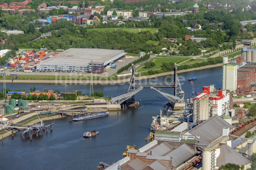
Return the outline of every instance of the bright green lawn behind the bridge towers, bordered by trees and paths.
[[[163,62],[172,62],[172,63],[179,63],[180,61],[184,60],[184,59],[188,59],[188,58],[184,58],[184,57],[172,57],[172,58],[160,58],[160,57],[154,57],[152,58],[152,62],[154,62],[156,64],[156,66],[152,67],[152,68],[143,68],[144,65],[139,66],[136,69],[136,72],[142,72],[142,71],[148,71],[148,70],[156,70],[156,69],[162,69],[162,63]]]

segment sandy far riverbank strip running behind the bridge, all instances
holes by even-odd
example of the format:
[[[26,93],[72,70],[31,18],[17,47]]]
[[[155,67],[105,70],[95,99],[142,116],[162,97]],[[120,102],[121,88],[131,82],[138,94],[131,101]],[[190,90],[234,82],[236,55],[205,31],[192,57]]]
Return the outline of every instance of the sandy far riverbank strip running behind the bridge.
[[[188,72],[188,71],[194,71],[194,70],[201,70],[201,69],[207,69],[207,68],[213,68],[213,67],[220,67],[223,64],[215,64],[215,65],[207,65],[207,66],[202,66],[202,67],[197,67],[197,68],[190,68],[186,70],[179,70],[179,73],[182,72]],[[144,79],[155,79],[156,77],[161,77],[161,76],[167,76],[167,75],[172,75],[174,74],[174,71],[168,71],[168,72],[163,72],[155,75],[148,75],[148,76],[137,76],[135,77],[135,80],[144,80]],[[121,77],[118,79],[109,79],[106,80],[105,77],[99,77],[98,80],[93,80],[94,84],[100,84],[100,85],[106,85],[106,84],[116,84],[116,83],[125,83],[129,82],[130,77]],[[4,82],[4,80],[0,80],[0,82]],[[82,79],[55,79],[55,80],[45,80],[45,79],[34,79],[34,80],[28,80],[28,79],[22,79],[22,80],[6,80],[6,83],[54,83],[56,85],[58,84],[64,84],[69,83],[69,84],[74,84],[74,85],[87,85],[90,83],[90,79],[82,80]]]

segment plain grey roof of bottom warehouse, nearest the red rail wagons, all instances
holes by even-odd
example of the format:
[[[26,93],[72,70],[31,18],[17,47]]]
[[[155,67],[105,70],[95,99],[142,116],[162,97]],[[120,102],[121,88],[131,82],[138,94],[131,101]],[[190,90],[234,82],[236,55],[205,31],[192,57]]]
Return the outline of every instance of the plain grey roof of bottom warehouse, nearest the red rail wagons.
[[[172,166],[176,167],[182,162],[188,160],[191,156],[195,155],[196,152],[188,147],[186,144],[179,146],[172,152],[168,153],[172,157]]]

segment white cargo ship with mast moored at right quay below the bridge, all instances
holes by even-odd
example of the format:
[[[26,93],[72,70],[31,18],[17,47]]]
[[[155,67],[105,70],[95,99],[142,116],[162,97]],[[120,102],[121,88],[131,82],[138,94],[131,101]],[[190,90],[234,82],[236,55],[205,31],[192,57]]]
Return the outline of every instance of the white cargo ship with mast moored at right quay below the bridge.
[[[166,115],[162,116],[162,110],[160,110],[160,115],[153,116],[153,121],[151,123],[151,132],[156,130],[172,130],[174,127],[181,123],[182,116],[171,115],[167,117]]]

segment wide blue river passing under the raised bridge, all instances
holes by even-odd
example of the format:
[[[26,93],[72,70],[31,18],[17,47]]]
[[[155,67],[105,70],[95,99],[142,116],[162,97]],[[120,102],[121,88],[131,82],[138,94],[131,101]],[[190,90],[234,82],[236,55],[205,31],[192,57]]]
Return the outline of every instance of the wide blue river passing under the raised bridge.
[[[222,88],[222,67],[195,70],[180,73],[185,96],[191,95],[191,84],[188,78],[197,77],[195,87],[202,91],[203,86],[215,84],[216,89]],[[159,77],[158,81],[163,81]],[[167,79],[168,81],[168,79]],[[6,83],[9,89],[24,89],[30,87],[37,90],[52,89],[65,90],[64,86],[55,84]],[[105,96],[117,96],[126,92],[127,84],[120,85],[94,85],[94,91],[102,91]],[[79,90],[90,93],[90,84],[68,85],[67,90]],[[172,88],[163,89],[173,94]],[[162,95],[145,88],[135,95],[135,100],[141,100],[137,108],[126,111],[110,111],[109,115],[102,118],[90,119],[80,122],[68,122],[68,118],[47,120],[45,125],[54,123],[53,130],[43,132],[42,136],[21,139],[20,133],[14,137],[4,138],[0,145],[1,169],[96,169],[99,162],[112,164],[122,159],[126,145],[136,145],[137,149],[145,145],[145,138],[150,133],[152,116],[159,114],[164,103]],[[165,112],[164,112],[165,113]],[[82,134],[87,131],[97,130],[99,135],[84,139]],[[2,143],[2,142],[1,142]]]

